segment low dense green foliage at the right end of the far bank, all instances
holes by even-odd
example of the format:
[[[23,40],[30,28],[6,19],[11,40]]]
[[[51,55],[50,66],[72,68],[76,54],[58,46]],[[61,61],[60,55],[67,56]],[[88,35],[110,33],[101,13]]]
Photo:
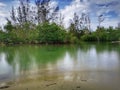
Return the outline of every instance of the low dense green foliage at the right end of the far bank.
[[[96,31],[81,37],[83,41],[120,41],[120,28],[97,28]]]

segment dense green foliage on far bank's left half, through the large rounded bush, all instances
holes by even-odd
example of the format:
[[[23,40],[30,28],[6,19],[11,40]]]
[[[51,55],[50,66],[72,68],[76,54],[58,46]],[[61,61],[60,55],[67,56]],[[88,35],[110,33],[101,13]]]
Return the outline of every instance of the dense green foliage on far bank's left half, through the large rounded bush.
[[[9,25],[5,27],[9,28]],[[11,26],[10,26],[11,27]],[[37,25],[34,30],[25,29],[25,27],[15,27],[11,31],[0,31],[0,42],[5,44],[62,44],[67,43],[68,33],[63,27],[55,23],[44,23]]]

